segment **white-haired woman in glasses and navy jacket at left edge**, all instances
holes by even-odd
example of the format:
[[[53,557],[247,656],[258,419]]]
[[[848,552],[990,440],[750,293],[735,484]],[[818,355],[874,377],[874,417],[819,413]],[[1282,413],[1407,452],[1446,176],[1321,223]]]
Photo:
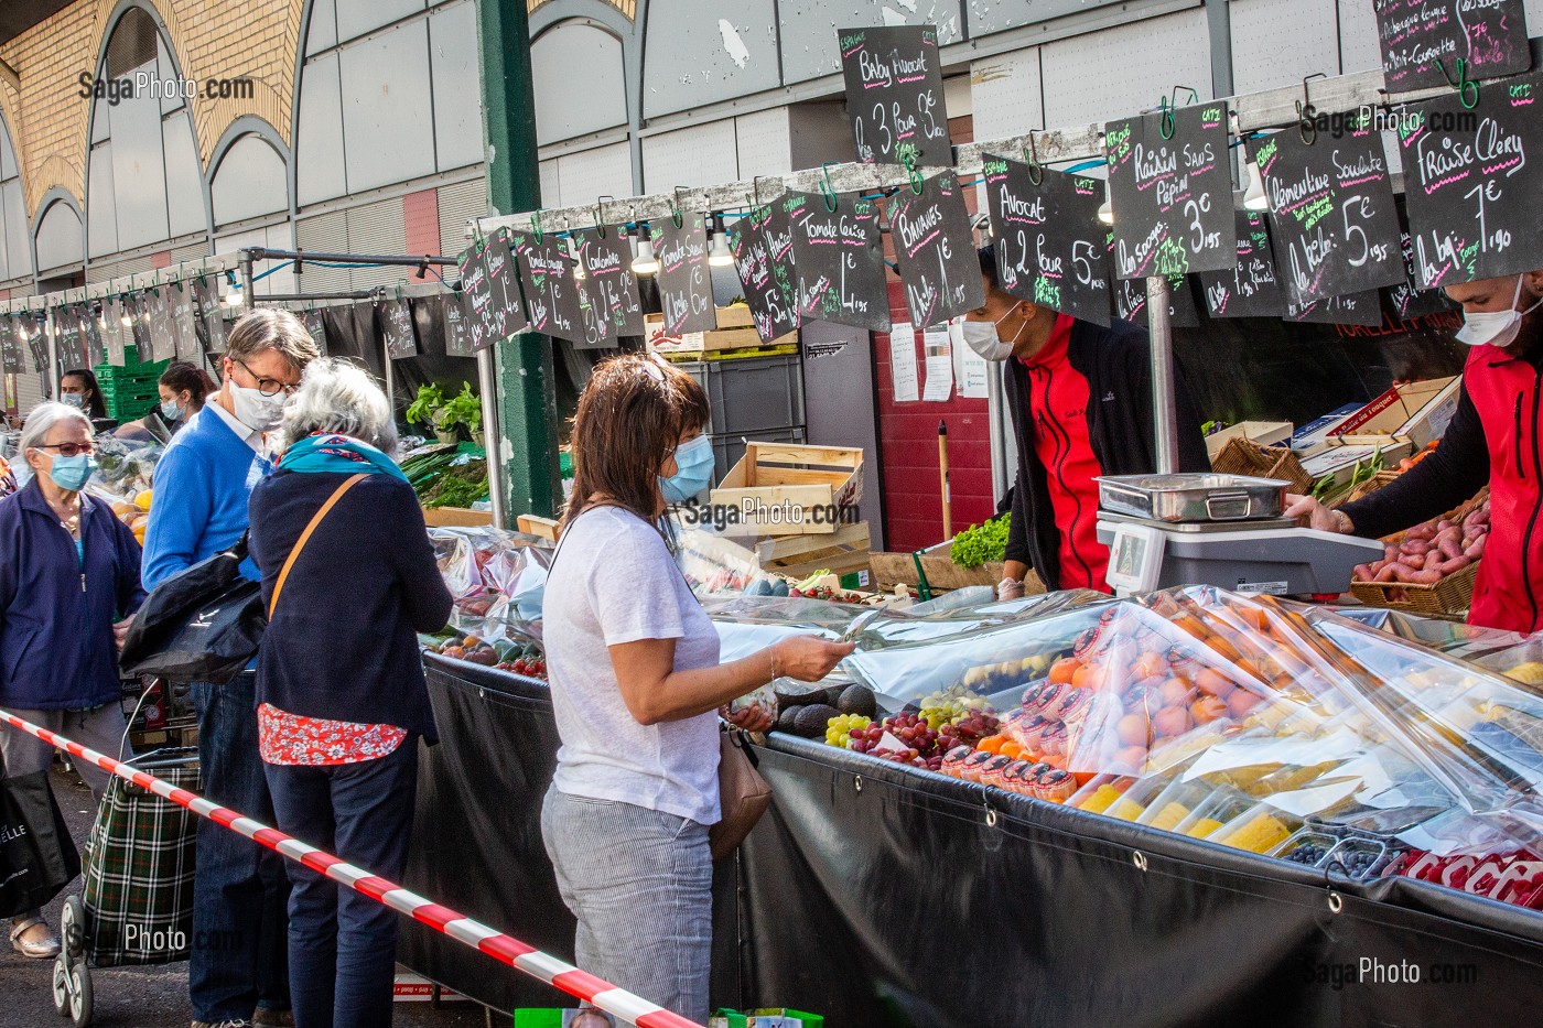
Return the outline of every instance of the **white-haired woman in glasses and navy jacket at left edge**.
[[[40,404],[19,445],[32,480],[0,500],[0,707],[108,755],[125,752],[117,647],[145,599],[139,543],[113,509],[82,492],[96,471],[91,421]],[[48,770],[52,747],[0,730],[5,775]],[[77,766],[97,800],[110,775]],[[14,918],[25,957],[59,952],[39,911]]]

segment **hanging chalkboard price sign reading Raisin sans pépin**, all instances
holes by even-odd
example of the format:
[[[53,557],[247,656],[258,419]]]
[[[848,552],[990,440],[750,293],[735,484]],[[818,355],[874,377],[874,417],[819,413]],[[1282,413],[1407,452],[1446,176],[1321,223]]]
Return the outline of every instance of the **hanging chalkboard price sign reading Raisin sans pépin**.
[[[1109,151],[1116,278],[1231,267],[1227,105],[1205,103],[1109,122],[1103,133]]]

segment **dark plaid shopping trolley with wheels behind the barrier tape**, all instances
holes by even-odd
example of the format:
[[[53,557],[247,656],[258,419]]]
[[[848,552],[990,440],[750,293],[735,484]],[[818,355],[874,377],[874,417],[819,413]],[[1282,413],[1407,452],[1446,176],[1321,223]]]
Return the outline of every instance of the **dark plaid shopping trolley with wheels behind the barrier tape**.
[[[162,749],[125,761],[173,786],[202,792],[198,749]],[[187,960],[193,948],[198,815],[113,778],[82,854],[82,889],[65,898],[54,959],[54,1009],[91,1023],[91,968]]]

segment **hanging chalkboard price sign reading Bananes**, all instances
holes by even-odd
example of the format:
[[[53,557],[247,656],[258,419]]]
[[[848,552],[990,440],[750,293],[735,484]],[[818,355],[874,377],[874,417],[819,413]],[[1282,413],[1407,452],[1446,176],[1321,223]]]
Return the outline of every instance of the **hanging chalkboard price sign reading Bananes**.
[[[975,235],[955,174],[926,179],[921,193],[903,187],[889,202],[910,323],[932,327],[984,304]]]

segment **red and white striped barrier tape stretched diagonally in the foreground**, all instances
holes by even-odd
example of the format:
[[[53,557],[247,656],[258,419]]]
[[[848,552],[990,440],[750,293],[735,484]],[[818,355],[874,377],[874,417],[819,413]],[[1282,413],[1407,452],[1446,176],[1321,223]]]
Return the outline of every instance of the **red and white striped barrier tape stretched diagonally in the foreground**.
[[[545,954],[534,946],[528,946],[518,938],[494,931],[480,921],[474,921],[469,917],[457,914],[447,906],[440,906],[438,903],[424,900],[415,892],[409,892],[386,878],[372,875],[363,867],[344,863],[332,854],[301,843],[299,840],[285,835],[278,829],[272,829],[261,821],[253,821],[248,817],[242,817],[236,810],[210,803],[194,792],[177,789],[154,775],[130,767],[128,764],[116,761],[111,756],[97,753],[96,750],[86,749],[79,742],[66,739],[62,735],[56,735],[29,721],[23,721],[8,710],[0,710],[0,721],[20,732],[26,732],[28,735],[39,738],[56,749],[65,750],[76,759],[96,764],[102,770],[131,781],[140,789],[148,789],[157,796],[164,796],[177,806],[187,807],[201,818],[208,818],[216,824],[224,824],[225,827],[239,832],[241,835],[245,835],[247,838],[261,843],[278,854],[282,854],[289,860],[306,864],[316,874],[326,875],[338,884],[344,884],[355,892],[361,892],[372,900],[384,903],[393,911],[409,915],[415,921],[427,925],[443,935],[449,935],[457,942],[466,943],[472,949],[488,954],[494,960],[506,963],[518,971],[525,971],[526,974],[537,977],[542,982],[568,992],[569,996],[577,996],[608,1014],[616,1014],[630,1025],[637,1025],[639,1028],[701,1028],[701,1025],[694,1020],[673,1014],[660,1008],[657,1003],[650,1003],[640,996],[633,996],[625,989],[619,989],[609,982],[594,977],[588,971],[580,971],[571,963]]]

